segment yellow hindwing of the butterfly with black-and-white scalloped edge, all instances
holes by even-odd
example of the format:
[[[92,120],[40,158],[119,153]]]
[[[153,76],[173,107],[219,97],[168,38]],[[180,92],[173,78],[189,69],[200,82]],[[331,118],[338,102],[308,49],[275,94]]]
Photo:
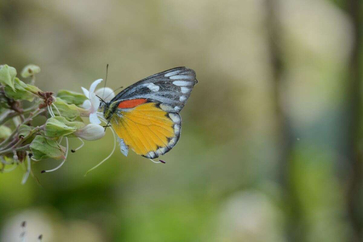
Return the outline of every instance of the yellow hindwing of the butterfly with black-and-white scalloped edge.
[[[154,159],[168,152],[179,139],[181,119],[171,107],[154,102],[119,109],[111,124],[135,153]]]

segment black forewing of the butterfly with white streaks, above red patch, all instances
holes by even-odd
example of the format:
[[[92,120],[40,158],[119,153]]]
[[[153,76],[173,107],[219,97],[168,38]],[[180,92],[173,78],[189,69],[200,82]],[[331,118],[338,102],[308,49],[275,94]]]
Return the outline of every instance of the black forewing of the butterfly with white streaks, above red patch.
[[[144,78],[127,87],[111,100],[147,98],[172,106],[179,112],[197,83],[195,71],[176,67]]]

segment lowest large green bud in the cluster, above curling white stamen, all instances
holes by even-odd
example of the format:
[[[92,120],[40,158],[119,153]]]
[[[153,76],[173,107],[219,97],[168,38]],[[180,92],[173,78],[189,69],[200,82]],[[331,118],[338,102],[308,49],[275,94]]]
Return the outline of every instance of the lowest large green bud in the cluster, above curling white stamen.
[[[59,145],[56,141],[37,135],[30,144],[30,149],[33,152],[33,157],[36,160],[47,158],[64,159],[65,147]]]

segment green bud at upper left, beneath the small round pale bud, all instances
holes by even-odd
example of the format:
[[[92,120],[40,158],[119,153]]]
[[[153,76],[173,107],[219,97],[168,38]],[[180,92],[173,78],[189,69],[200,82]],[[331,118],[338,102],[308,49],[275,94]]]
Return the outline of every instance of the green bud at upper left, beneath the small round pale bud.
[[[29,102],[32,102],[38,94],[38,91],[40,91],[37,87],[25,84],[17,77],[14,78],[14,87],[15,90],[13,90],[10,86],[5,86],[4,89],[6,95],[15,100],[28,100]]]

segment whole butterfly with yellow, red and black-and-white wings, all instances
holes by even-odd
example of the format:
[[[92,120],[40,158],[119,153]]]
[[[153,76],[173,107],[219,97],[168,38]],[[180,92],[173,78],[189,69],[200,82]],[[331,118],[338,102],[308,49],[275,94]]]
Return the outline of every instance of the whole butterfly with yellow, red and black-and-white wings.
[[[176,67],[136,82],[105,103],[103,116],[118,135],[123,155],[131,148],[154,159],[170,151],[180,137],[179,112],[196,83],[194,70]]]

